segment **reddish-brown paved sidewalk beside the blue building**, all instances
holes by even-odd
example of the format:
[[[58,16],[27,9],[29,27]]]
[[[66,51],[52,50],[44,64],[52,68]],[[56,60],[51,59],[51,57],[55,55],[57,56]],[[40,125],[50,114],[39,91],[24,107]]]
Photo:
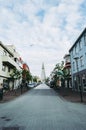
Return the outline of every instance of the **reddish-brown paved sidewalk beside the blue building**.
[[[79,92],[73,91],[70,88],[59,88],[55,89],[55,91],[70,102],[81,103],[81,96]],[[86,93],[83,93],[83,103],[86,104]]]

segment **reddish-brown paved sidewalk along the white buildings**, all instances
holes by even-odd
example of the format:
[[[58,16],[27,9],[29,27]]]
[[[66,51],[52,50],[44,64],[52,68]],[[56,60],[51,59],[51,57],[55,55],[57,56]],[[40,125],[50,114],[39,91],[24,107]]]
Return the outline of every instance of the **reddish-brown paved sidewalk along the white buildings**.
[[[25,92],[29,91],[29,89],[27,90],[27,88],[23,88],[22,89],[22,94],[21,94],[21,89],[17,89],[17,90],[13,90],[13,91],[6,91],[3,94],[3,100],[0,100],[0,103],[5,103],[8,101],[11,101],[17,97],[19,97],[20,95],[23,95]]]

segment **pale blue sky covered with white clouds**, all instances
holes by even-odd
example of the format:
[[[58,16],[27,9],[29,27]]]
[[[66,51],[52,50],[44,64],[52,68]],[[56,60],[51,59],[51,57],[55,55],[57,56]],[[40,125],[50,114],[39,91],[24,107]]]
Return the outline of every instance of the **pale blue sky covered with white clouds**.
[[[86,27],[86,0],[0,0],[0,41],[13,44],[32,75],[46,76]]]

